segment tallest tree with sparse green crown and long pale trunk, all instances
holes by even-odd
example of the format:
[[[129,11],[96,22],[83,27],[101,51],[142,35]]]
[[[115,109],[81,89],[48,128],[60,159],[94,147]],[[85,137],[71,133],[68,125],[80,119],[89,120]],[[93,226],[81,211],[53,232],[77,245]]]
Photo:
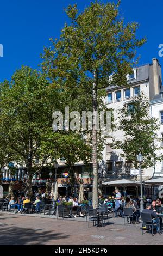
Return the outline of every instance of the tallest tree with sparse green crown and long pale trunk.
[[[65,24],[59,40],[45,48],[43,70],[63,90],[81,89],[91,101],[93,111],[92,163],[93,206],[98,206],[98,153],[95,112],[103,89],[126,84],[131,73],[135,48],[145,39],[137,39],[136,22],[125,23],[118,13],[118,4],[96,1],[83,12],[77,5],[69,5],[66,13],[70,22]],[[83,105],[83,109],[85,105]],[[76,109],[75,109],[76,110]]]

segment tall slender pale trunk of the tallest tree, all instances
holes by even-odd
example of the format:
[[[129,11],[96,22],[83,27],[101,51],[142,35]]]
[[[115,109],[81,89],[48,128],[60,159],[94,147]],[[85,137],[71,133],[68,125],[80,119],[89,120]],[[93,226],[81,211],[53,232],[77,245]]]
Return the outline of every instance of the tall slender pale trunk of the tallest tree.
[[[93,83],[92,90],[92,163],[93,163],[93,208],[98,207],[98,162],[97,162],[97,83]]]

